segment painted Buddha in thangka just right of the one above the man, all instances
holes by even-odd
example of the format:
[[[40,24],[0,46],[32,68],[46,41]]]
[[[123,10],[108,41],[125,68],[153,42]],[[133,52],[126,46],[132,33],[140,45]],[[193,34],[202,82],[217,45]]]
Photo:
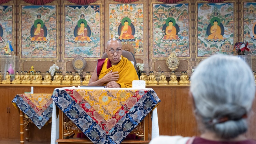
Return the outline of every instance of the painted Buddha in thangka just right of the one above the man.
[[[165,35],[163,36],[163,40],[178,40],[178,33],[180,31],[179,26],[176,24],[174,18],[169,17],[166,19],[166,24],[163,25],[162,28]]]

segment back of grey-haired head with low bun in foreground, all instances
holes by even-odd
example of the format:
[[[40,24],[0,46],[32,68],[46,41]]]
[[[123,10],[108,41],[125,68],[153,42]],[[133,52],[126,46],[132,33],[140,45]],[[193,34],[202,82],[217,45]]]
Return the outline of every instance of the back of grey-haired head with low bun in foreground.
[[[247,131],[245,118],[252,107],[255,82],[244,60],[228,55],[203,60],[191,76],[190,92],[205,129],[227,140]]]

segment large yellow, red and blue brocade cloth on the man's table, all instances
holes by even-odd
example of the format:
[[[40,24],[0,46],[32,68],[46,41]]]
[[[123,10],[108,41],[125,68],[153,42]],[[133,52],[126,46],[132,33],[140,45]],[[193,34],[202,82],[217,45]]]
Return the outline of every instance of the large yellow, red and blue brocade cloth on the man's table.
[[[53,101],[97,144],[119,144],[160,102],[153,89],[55,89]]]

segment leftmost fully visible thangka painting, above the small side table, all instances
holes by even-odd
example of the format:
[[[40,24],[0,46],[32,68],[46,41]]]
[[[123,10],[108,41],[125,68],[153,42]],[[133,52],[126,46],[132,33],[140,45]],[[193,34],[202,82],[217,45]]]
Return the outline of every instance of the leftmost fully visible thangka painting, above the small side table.
[[[56,5],[22,6],[22,58],[56,58]]]

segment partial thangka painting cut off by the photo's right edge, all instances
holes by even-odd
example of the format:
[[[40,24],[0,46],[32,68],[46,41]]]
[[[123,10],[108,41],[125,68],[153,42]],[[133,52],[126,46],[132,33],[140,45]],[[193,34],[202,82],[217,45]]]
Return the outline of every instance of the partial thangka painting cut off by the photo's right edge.
[[[256,3],[243,3],[243,38],[248,41],[250,51],[248,54],[256,54]]]

